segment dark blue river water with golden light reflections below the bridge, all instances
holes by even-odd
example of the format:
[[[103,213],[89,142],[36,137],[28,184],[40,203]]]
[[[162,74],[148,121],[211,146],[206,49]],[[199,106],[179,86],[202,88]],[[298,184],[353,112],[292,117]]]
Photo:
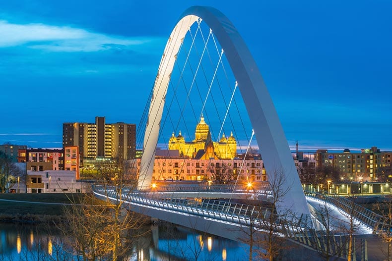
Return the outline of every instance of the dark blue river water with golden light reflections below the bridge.
[[[146,228],[134,241],[129,261],[243,261],[249,247],[172,224]],[[228,232],[229,233],[229,232]],[[0,261],[74,261],[55,227],[0,223]]]

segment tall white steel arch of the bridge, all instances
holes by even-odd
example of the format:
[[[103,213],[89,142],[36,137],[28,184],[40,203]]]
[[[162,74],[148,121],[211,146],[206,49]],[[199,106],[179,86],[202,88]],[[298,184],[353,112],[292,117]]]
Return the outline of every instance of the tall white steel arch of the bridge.
[[[148,113],[138,188],[142,190],[151,185],[154,153],[171,72],[187,31],[198,19],[211,28],[225,52],[254,128],[268,178],[273,179],[276,171],[284,173],[282,191],[287,189],[288,193],[279,203],[278,209],[290,209],[297,217],[303,214],[310,216],[294,160],[259,68],[231,21],[217,9],[206,6],[188,8],[167,41]]]

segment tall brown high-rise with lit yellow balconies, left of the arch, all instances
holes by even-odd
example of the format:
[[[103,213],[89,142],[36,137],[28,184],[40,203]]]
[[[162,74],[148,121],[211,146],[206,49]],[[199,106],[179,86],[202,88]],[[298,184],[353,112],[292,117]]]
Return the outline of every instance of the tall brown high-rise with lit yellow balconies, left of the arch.
[[[63,147],[78,146],[82,159],[135,158],[136,125],[124,122],[106,123],[95,117],[95,123],[63,123]]]

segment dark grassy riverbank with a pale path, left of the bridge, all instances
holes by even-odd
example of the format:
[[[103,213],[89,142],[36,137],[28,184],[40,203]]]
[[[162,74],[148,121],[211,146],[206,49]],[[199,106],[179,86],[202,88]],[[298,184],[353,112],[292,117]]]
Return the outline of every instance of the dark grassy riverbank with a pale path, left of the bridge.
[[[64,208],[79,204],[80,193],[0,194],[0,222],[59,223],[65,221]],[[96,205],[106,205],[97,199]]]

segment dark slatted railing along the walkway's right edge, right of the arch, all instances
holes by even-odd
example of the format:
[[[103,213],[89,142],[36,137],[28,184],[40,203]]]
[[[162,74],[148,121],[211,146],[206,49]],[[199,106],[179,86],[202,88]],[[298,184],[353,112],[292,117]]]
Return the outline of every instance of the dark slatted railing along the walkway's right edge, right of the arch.
[[[326,201],[347,214],[352,214],[356,219],[360,220],[374,230],[389,229],[386,220],[382,215],[375,213],[370,209],[366,209],[346,198],[340,196],[327,196],[318,192],[305,191],[305,195],[315,199]]]

